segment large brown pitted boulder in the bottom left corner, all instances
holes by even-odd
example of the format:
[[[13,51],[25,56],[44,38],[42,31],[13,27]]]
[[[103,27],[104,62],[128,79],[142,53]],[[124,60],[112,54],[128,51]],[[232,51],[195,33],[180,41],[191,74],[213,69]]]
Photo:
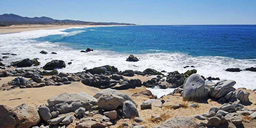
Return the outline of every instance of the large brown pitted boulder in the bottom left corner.
[[[31,106],[21,104],[15,108],[0,105],[1,128],[30,128],[40,122],[40,116]]]

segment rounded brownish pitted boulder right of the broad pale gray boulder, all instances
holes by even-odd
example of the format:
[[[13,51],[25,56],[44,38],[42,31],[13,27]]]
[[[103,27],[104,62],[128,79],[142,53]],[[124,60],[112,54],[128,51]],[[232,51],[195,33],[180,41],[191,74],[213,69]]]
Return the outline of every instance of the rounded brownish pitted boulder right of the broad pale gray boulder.
[[[97,101],[97,106],[106,111],[116,110],[122,104],[123,98],[115,94],[101,95]]]

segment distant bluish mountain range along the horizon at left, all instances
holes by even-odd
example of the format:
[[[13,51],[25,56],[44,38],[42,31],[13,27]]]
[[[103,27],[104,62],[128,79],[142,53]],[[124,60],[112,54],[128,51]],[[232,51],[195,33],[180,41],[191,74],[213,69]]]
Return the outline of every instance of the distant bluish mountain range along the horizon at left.
[[[114,22],[87,22],[79,20],[54,20],[49,17],[22,17],[15,14],[0,15],[0,26],[10,26],[18,24],[81,24],[81,25],[135,25],[130,23],[114,23]]]

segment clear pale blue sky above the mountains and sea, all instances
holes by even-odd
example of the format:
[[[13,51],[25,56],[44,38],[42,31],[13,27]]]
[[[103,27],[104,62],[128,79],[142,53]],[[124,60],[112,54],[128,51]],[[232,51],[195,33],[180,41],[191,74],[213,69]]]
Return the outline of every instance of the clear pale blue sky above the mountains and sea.
[[[139,25],[256,24],[256,0],[0,0],[0,14]]]

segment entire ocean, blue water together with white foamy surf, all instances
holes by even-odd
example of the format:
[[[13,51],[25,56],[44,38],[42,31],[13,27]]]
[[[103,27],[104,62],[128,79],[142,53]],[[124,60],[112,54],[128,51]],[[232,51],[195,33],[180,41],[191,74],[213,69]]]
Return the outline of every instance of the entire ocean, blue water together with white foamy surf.
[[[193,69],[184,66],[195,66],[197,73],[205,77],[235,80],[235,88],[256,88],[255,72],[225,71],[227,68],[256,67],[256,25],[142,25],[35,30],[0,35],[0,44],[0,53],[18,54],[3,63],[39,58],[39,67],[42,67],[51,60],[64,60],[66,64],[72,64],[58,70],[71,73],[103,65],[115,66],[119,70],[154,68],[184,73]],[[87,47],[94,51],[80,52]],[[49,54],[39,54],[42,50]],[[125,61],[130,54],[140,61]],[[162,91],[169,93],[171,90]],[[154,89],[153,93],[159,93],[159,89]]]

